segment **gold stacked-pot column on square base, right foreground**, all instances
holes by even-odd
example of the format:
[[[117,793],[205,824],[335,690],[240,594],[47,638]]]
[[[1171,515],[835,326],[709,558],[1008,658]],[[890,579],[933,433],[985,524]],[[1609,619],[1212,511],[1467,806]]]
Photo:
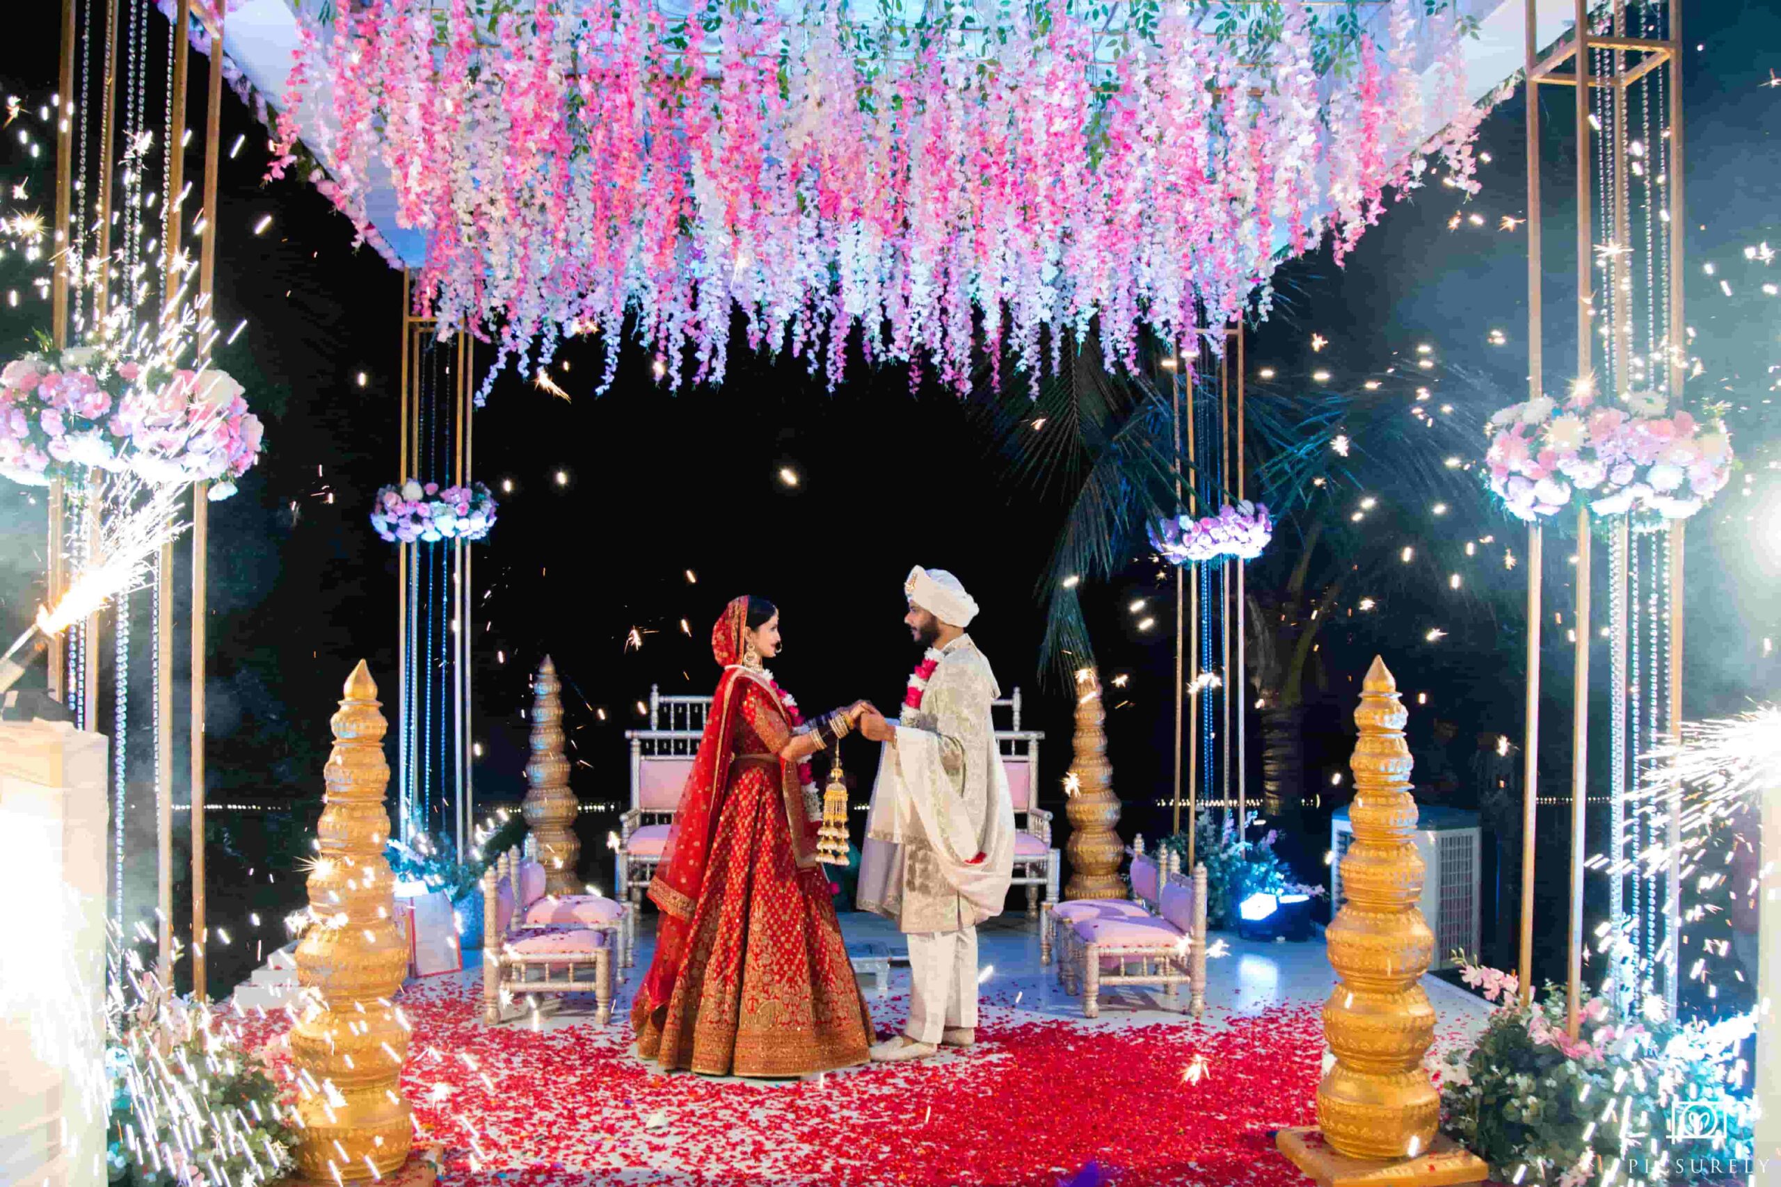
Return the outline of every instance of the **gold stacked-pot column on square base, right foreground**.
[[[1348,762],[1354,844],[1341,860],[1346,902],[1327,933],[1341,979],[1323,1004],[1336,1062],[1318,1086],[1318,1128],[1281,1130],[1277,1144],[1320,1183],[1475,1183],[1489,1167],[1437,1137],[1441,1094],[1423,1068],[1435,1011],[1419,982],[1434,933],[1416,906],[1425,870],[1412,840],[1409,714],[1382,658],[1361,687],[1361,740]]]

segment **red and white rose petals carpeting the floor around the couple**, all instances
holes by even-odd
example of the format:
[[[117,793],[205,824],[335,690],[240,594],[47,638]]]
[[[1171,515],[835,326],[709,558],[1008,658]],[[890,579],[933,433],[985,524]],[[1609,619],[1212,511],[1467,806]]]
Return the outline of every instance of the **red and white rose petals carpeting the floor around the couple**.
[[[486,1027],[476,988],[452,979],[401,1005],[417,1148],[442,1146],[442,1182],[476,1187],[1053,1187],[1090,1160],[1115,1183],[1298,1187],[1270,1130],[1313,1121],[1323,1057],[1314,1005],[1085,1027],[987,1002],[964,1057],[741,1082],[654,1071],[622,1014]],[[905,1011],[876,1000],[880,1034]],[[249,1032],[289,1075],[285,1025]]]

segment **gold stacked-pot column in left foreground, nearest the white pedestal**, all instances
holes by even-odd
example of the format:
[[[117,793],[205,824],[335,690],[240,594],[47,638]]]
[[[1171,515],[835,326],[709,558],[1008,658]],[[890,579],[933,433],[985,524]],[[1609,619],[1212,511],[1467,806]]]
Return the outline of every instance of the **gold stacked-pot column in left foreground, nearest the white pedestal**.
[[[297,945],[305,1014],[290,1032],[303,1119],[297,1175],[315,1183],[385,1178],[408,1160],[415,1135],[401,1093],[408,1027],[390,1004],[408,972],[408,941],[395,927],[395,883],[383,858],[386,726],[363,660],[329,724],[321,856],[310,870],[313,922]]]

